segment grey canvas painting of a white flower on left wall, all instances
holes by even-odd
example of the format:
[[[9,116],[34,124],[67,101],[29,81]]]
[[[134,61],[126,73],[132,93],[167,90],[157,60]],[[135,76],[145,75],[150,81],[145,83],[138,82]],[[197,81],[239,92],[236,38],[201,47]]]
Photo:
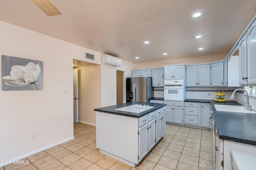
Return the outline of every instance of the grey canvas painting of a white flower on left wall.
[[[43,90],[43,62],[2,55],[2,90]]]

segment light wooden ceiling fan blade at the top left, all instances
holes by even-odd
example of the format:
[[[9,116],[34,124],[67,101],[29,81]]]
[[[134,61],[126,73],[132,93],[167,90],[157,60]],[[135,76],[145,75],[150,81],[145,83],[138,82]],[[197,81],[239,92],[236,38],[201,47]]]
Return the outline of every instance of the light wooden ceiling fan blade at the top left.
[[[32,0],[36,6],[38,6],[46,15],[56,16],[60,15],[61,12],[50,0]]]

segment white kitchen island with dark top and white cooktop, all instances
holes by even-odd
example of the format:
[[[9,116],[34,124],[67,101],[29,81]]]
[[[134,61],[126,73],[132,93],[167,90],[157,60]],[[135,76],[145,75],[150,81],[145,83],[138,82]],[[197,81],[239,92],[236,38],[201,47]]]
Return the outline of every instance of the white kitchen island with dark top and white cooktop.
[[[96,147],[101,153],[135,167],[165,134],[165,106],[129,102],[94,109]]]

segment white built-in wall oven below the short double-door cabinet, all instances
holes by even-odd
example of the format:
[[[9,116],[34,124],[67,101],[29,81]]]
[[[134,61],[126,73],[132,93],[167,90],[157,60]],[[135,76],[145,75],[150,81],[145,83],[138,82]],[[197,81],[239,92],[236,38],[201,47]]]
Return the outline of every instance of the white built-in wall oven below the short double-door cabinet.
[[[178,100],[185,99],[183,80],[165,80],[164,81],[164,100]]]

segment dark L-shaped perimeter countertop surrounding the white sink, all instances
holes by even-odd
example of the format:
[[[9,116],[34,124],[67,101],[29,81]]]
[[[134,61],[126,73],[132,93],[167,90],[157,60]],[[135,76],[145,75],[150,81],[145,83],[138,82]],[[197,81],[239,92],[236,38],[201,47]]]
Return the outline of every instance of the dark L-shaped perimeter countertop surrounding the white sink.
[[[236,105],[235,101],[186,99],[185,102],[210,103],[220,139],[256,146],[256,114],[216,111],[214,104]]]

